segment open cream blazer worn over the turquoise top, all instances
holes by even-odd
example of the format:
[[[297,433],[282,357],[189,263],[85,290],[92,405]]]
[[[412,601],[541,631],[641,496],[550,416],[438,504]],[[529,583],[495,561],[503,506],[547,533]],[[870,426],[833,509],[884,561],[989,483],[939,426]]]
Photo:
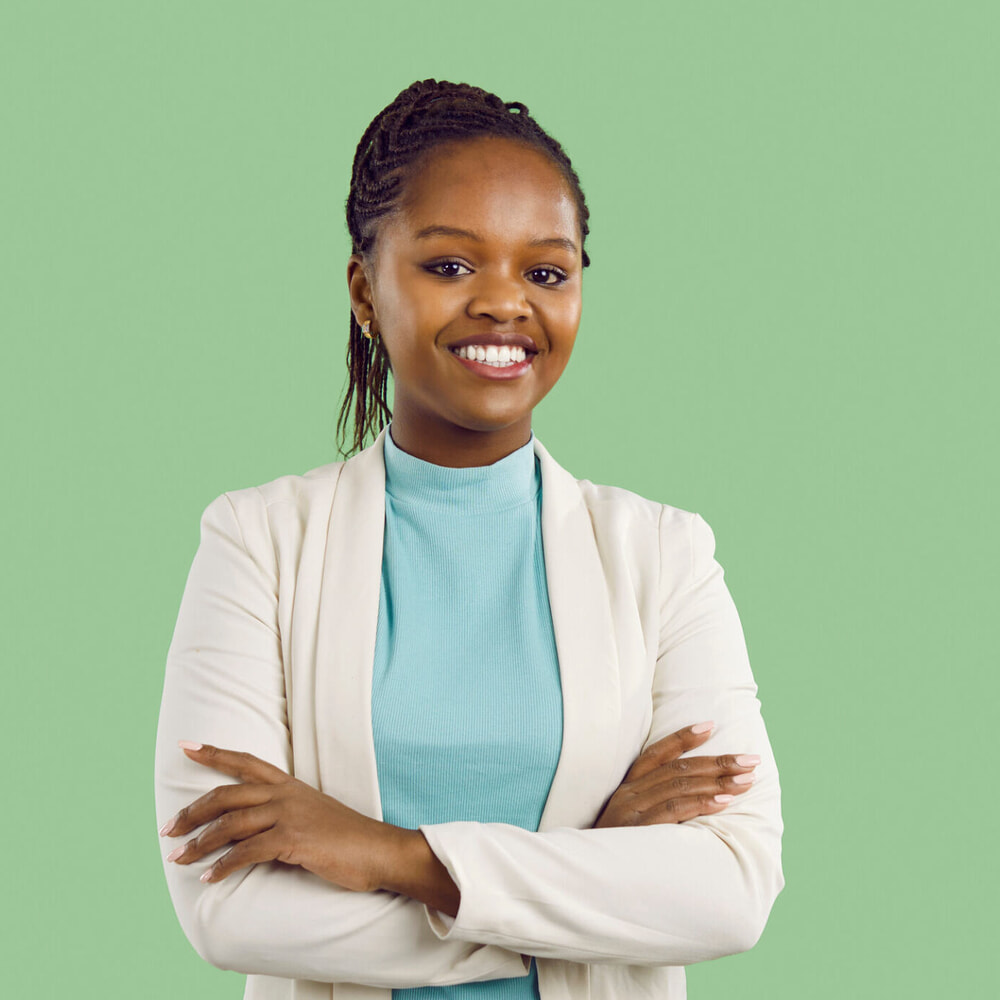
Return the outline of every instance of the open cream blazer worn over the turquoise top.
[[[167,656],[157,819],[232,779],[179,739],[246,750],[381,818],[371,681],[385,431],[346,462],[226,493]],[[249,1000],[389,1000],[393,987],[525,975],[543,1000],[685,996],[682,966],[750,948],[783,886],[778,774],[736,609],[697,514],[577,480],[535,440],[563,696],[563,744],[537,833],[423,827],[461,890],[454,919],[257,865],[204,885],[164,863],[198,953]],[[682,824],[591,829],[647,744],[714,719],[698,754],[757,753],[758,780]],[[165,856],[175,842],[161,841]]]

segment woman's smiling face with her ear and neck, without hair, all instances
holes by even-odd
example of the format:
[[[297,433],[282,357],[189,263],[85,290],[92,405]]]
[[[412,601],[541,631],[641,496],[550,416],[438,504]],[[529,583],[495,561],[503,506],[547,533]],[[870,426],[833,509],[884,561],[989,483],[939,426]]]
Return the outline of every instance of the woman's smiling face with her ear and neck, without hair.
[[[355,315],[389,355],[401,448],[482,465],[527,442],[580,325],[581,244],[572,191],[544,153],[494,137],[428,153],[379,225],[375,260],[348,266]],[[503,361],[505,342],[523,362]],[[460,345],[497,348],[500,367]]]

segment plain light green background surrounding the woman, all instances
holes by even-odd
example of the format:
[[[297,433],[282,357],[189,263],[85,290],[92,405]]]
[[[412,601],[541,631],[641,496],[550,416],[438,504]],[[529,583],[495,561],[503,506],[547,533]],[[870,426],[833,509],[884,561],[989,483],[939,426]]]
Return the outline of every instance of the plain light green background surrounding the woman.
[[[351,159],[436,77],[526,103],[591,208],[536,433],[703,514],[744,622],[787,888],[693,1000],[991,995],[998,37],[992,2],[4,0],[4,992],[242,995],[160,869],[164,655],[203,508],[337,457]]]

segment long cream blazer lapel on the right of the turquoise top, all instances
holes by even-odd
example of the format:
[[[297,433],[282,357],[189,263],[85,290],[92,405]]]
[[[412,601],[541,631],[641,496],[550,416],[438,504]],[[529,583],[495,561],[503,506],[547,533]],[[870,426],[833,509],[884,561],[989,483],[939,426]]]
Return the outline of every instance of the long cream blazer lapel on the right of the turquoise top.
[[[621,691],[607,579],[580,485],[535,439],[542,548],[559,654],[563,745],[540,830],[589,827],[610,787]]]

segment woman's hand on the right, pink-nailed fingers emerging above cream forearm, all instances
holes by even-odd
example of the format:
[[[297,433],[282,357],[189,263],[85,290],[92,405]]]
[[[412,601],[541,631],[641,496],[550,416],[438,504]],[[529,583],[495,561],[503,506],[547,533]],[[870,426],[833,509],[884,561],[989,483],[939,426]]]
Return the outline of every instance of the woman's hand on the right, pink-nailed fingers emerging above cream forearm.
[[[608,799],[594,828],[682,823],[722,812],[753,784],[760,757],[681,757],[701,746],[712,729],[713,723],[702,722],[647,747]]]

